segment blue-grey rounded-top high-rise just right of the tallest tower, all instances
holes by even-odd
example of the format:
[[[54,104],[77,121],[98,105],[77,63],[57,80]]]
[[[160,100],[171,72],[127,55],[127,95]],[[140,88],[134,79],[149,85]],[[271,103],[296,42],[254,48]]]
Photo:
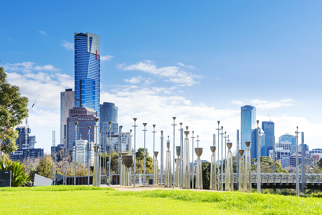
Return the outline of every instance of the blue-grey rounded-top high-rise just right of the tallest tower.
[[[114,103],[103,102],[99,105],[100,113],[100,130],[102,130],[102,150],[109,151],[109,146],[106,145],[106,138],[109,137],[109,123],[111,121],[111,134],[118,133],[118,107]]]

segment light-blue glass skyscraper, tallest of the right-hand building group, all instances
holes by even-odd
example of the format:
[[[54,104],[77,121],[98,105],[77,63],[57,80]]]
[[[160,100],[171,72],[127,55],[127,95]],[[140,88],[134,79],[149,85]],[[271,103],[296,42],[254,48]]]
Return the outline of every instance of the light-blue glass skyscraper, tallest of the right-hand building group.
[[[245,105],[241,107],[241,149],[247,149],[245,142],[251,141],[251,132],[255,128],[256,107],[253,107],[251,105]]]

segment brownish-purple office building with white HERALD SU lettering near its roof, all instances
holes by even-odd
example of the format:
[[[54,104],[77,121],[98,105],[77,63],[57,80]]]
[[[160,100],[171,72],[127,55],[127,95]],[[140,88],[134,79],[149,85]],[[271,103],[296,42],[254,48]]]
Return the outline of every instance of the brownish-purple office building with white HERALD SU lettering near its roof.
[[[69,109],[68,112],[66,138],[67,150],[69,150],[70,152],[73,150],[75,140],[88,140],[90,138],[90,141],[95,142],[96,129],[94,129],[94,126],[96,125],[96,122],[94,118],[97,117],[98,111],[87,107],[73,107],[72,109]],[[78,122],[76,126],[76,134],[74,122]],[[90,136],[88,135],[88,126],[90,126]],[[99,126],[97,128],[97,132],[97,136],[99,136]]]

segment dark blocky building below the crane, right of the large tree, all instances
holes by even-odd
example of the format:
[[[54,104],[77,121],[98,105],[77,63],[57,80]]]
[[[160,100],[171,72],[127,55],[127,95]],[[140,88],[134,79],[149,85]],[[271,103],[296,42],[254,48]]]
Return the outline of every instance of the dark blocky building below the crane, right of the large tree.
[[[18,131],[18,138],[16,139],[16,145],[18,149],[33,149],[35,148],[36,136],[29,135],[31,129],[24,126],[19,126],[16,128]],[[27,138],[27,141],[26,141]]]

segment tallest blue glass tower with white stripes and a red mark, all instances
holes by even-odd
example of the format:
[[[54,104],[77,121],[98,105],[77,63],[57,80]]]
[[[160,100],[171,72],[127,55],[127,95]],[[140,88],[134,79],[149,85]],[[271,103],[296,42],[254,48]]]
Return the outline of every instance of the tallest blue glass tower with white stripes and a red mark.
[[[92,33],[75,33],[74,39],[75,107],[99,112],[100,38]]]

